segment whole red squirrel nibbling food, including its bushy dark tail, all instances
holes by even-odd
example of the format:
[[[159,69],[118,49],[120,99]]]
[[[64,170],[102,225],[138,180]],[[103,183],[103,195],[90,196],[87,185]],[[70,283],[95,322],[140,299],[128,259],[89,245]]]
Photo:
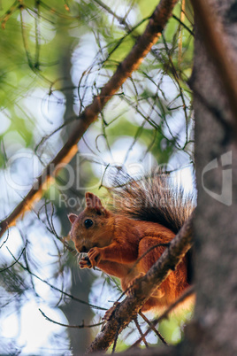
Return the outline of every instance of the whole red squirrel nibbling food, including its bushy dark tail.
[[[98,267],[119,277],[122,290],[127,292],[178,233],[194,209],[194,199],[174,188],[168,174],[155,174],[140,181],[129,179],[126,183],[122,179],[111,190],[114,204],[110,210],[96,195],[85,194],[85,210],[68,215],[72,223],[70,236],[78,252],[88,253],[80,259],[80,268]],[[190,284],[190,266],[187,254],[141,312],[164,309],[178,298]]]

